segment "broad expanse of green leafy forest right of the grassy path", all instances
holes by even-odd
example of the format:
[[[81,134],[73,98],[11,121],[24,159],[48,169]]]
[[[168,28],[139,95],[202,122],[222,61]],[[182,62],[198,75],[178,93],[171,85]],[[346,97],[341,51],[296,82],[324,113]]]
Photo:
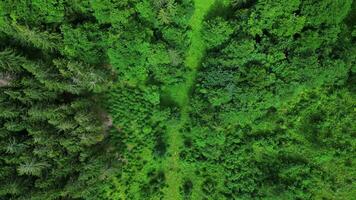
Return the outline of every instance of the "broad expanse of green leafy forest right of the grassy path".
[[[207,19],[181,154],[203,199],[355,196],[351,4],[246,1]]]

